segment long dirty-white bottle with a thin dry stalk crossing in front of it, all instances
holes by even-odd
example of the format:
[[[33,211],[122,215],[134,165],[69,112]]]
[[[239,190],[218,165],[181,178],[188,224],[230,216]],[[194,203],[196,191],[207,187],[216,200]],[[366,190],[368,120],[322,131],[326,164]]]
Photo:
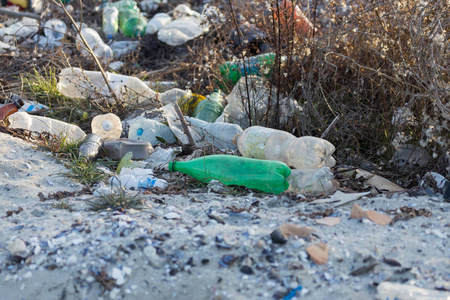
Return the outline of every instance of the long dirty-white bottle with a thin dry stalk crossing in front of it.
[[[133,76],[106,72],[106,77],[117,98],[125,103],[141,104],[155,101],[158,94],[142,80]],[[80,68],[65,68],[59,73],[58,90],[72,98],[105,97],[114,102],[102,74],[99,71],[85,71]]]

